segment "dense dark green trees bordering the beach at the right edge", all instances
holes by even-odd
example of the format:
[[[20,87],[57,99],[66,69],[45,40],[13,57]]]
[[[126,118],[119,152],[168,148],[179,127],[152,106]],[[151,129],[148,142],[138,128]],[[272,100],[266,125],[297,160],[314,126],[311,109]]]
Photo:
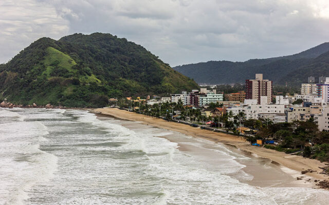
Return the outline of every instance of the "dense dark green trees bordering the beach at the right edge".
[[[246,127],[258,130],[254,137],[248,140],[254,143],[256,139],[275,140],[276,146],[266,145],[268,149],[296,152],[304,157],[329,161],[329,133],[319,131],[313,118],[307,121],[273,124],[271,121],[249,119],[244,121]]]

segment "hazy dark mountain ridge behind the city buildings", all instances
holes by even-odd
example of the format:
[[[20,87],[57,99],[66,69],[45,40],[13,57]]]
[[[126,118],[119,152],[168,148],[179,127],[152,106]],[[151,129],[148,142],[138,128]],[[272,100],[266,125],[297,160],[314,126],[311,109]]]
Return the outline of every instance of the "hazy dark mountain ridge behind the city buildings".
[[[173,69],[193,78],[197,83],[244,83],[246,79],[254,78],[255,73],[263,73],[264,77],[273,80],[275,85],[285,85],[287,82],[289,85],[296,86],[306,81],[308,76],[325,75],[324,70],[321,70],[322,73],[315,70],[320,65],[319,61],[322,62],[322,66],[326,65],[326,62],[329,63],[327,58],[321,57],[327,52],[329,52],[329,43],[324,43],[294,55],[250,59],[245,62],[208,61],[177,66]],[[320,57],[321,60],[318,59]],[[298,78],[291,78],[294,73],[298,74]]]

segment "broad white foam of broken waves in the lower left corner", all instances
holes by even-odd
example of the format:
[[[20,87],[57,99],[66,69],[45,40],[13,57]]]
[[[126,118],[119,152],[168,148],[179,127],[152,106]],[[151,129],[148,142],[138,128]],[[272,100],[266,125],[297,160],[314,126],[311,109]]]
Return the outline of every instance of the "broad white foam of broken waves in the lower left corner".
[[[13,121],[0,126],[0,203],[24,204],[33,185],[53,176],[57,157],[40,150],[47,134],[40,122]]]

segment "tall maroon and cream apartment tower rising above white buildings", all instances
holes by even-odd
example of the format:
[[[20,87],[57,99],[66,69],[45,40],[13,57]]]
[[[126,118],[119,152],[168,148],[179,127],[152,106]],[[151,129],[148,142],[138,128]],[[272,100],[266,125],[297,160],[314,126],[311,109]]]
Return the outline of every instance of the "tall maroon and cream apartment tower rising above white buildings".
[[[261,103],[261,97],[267,96],[267,104],[272,101],[272,81],[263,79],[263,74],[256,74],[256,79],[246,80],[246,99],[257,99]]]

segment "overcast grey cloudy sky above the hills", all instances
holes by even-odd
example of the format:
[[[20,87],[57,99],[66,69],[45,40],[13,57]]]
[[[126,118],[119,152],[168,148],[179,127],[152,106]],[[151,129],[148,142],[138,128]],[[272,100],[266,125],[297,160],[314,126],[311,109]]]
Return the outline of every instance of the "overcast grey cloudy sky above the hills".
[[[127,38],[171,66],[276,57],[329,42],[329,1],[0,1],[0,63],[41,37],[94,32]]]

